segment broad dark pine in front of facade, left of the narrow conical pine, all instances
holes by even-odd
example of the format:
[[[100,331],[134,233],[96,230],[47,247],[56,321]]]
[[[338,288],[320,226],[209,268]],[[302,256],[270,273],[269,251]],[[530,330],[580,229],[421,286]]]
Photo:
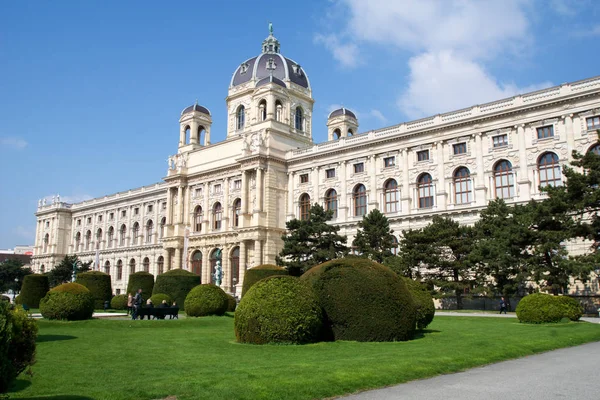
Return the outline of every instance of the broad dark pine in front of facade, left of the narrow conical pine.
[[[283,249],[277,264],[287,268],[290,275],[301,275],[317,264],[348,253],[347,238],[338,234],[339,226],[330,225],[333,211],[325,211],[315,203],[307,220],[292,219],[286,223],[288,233],[283,235]]]

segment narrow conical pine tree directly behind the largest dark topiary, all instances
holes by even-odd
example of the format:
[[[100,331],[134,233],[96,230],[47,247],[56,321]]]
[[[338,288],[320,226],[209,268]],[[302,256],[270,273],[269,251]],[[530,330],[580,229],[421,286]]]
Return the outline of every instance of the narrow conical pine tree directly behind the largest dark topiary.
[[[362,221],[358,223],[358,231],[352,246],[363,257],[382,263],[386,258],[394,255],[391,249],[396,247],[397,243],[393,233],[386,216],[378,209],[374,209],[363,216]]]

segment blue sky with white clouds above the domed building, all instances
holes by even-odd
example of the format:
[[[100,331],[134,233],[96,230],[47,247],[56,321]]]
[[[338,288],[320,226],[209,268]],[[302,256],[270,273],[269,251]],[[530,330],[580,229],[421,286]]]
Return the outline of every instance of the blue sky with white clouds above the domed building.
[[[158,182],[179,113],[225,137],[231,74],[273,22],[306,70],[313,135],[328,112],[360,130],[600,74],[594,0],[3,1],[0,249],[32,244],[38,199]]]

